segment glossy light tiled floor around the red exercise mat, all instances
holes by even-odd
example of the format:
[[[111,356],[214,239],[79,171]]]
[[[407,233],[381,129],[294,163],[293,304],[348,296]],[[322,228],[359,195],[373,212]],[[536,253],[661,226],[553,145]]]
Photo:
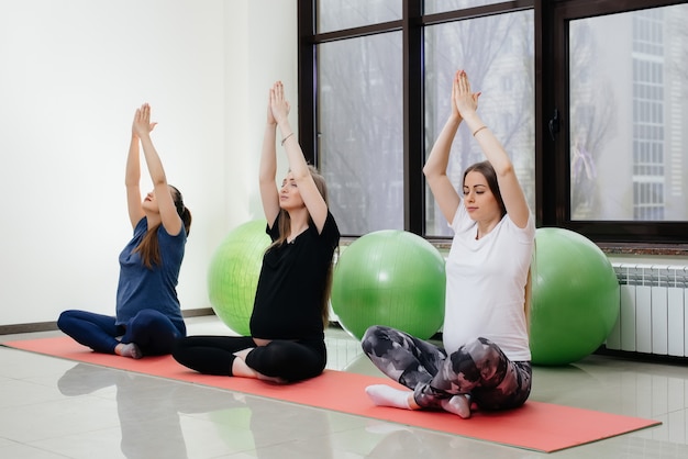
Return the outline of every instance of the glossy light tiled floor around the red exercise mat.
[[[328,345],[329,368],[380,374],[344,332]],[[663,424],[547,455],[0,347],[0,458],[688,458],[686,366],[590,356],[533,381],[531,400]]]

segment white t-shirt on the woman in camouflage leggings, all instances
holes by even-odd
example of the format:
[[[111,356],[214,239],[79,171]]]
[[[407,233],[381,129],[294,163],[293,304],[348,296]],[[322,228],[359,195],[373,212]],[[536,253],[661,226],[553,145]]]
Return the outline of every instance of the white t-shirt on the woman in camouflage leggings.
[[[477,224],[464,201],[451,225],[446,261],[443,344],[448,354],[477,337],[497,344],[512,361],[530,360],[525,283],[535,242],[531,214],[519,228],[509,214],[476,240]]]

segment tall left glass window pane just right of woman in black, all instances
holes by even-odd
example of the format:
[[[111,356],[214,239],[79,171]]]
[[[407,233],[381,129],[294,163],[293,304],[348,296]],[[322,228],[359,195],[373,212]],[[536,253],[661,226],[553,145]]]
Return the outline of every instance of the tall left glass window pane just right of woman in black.
[[[318,46],[319,168],[342,234],[403,228],[401,32]]]

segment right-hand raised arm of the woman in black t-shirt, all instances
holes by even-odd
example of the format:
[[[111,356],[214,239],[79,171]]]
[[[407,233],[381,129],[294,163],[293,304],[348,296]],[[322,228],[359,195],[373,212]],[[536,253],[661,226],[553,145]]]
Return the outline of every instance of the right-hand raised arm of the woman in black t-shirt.
[[[328,204],[318,191],[313,177],[308,168],[308,163],[303,157],[303,152],[299,142],[295,137],[295,132],[289,124],[289,102],[285,100],[285,89],[281,81],[277,81],[270,89],[270,108],[273,116],[277,121],[279,132],[282,136],[282,146],[287,153],[289,170],[299,188],[299,193],[308,209],[313,223],[321,232],[328,219]]]

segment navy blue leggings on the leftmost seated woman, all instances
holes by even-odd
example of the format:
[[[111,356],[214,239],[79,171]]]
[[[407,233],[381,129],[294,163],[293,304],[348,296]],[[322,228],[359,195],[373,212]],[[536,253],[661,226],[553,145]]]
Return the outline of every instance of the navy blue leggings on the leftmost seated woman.
[[[141,310],[125,325],[116,325],[111,315],[69,310],[59,315],[57,326],[77,343],[103,354],[114,354],[120,343],[134,343],[144,356],[162,356],[170,354],[175,340],[186,336],[184,324],[177,327],[155,310]]]

